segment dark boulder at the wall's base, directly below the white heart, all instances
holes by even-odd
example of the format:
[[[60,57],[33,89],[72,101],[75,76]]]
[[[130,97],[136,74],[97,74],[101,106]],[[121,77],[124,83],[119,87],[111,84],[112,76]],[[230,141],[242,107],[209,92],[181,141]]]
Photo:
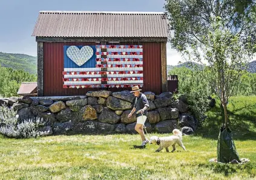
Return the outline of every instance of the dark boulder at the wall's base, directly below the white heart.
[[[77,123],[72,132],[73,134],[90,134],[97,133],[97,121],[85,121],[82,123]]]

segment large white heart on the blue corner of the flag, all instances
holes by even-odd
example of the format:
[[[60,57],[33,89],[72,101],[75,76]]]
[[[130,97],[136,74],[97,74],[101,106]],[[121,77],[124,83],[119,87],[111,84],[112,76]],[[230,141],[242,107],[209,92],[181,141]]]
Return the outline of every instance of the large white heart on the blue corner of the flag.
[[[67,56],[77,65],[82,66],[93,57],[93,48],[84,46],[80,50],[76,46],[67,48]]]

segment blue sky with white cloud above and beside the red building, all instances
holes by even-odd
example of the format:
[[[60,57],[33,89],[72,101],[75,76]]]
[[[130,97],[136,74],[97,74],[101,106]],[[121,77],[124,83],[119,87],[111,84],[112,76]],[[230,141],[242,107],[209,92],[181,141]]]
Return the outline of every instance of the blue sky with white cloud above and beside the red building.
[[[41,10],[62,11],[164,11],[165,0],[2,0],[0,51],[37,56],[32,31]],[[167,45],[167,64],[177,65],[180,54]]]

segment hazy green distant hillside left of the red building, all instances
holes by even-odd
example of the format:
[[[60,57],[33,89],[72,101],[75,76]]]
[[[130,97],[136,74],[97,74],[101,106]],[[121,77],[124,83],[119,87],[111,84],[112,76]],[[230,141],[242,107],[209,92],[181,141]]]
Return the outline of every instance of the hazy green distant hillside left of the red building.
[[[0,64],[3,67],[23,69],[30,74],[37,73],[38,58],[27,54],[11,54],[0,52]]]

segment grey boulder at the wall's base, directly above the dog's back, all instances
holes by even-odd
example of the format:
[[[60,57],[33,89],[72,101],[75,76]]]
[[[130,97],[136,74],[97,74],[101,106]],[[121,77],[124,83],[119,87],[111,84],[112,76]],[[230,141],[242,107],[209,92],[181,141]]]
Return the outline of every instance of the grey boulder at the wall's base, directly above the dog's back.
[[[172,130],[178,128],[178,121],[177,120],[166,120],[166,121],[161,121],[156,124],[154,129],[158,133],[171,133]]]

